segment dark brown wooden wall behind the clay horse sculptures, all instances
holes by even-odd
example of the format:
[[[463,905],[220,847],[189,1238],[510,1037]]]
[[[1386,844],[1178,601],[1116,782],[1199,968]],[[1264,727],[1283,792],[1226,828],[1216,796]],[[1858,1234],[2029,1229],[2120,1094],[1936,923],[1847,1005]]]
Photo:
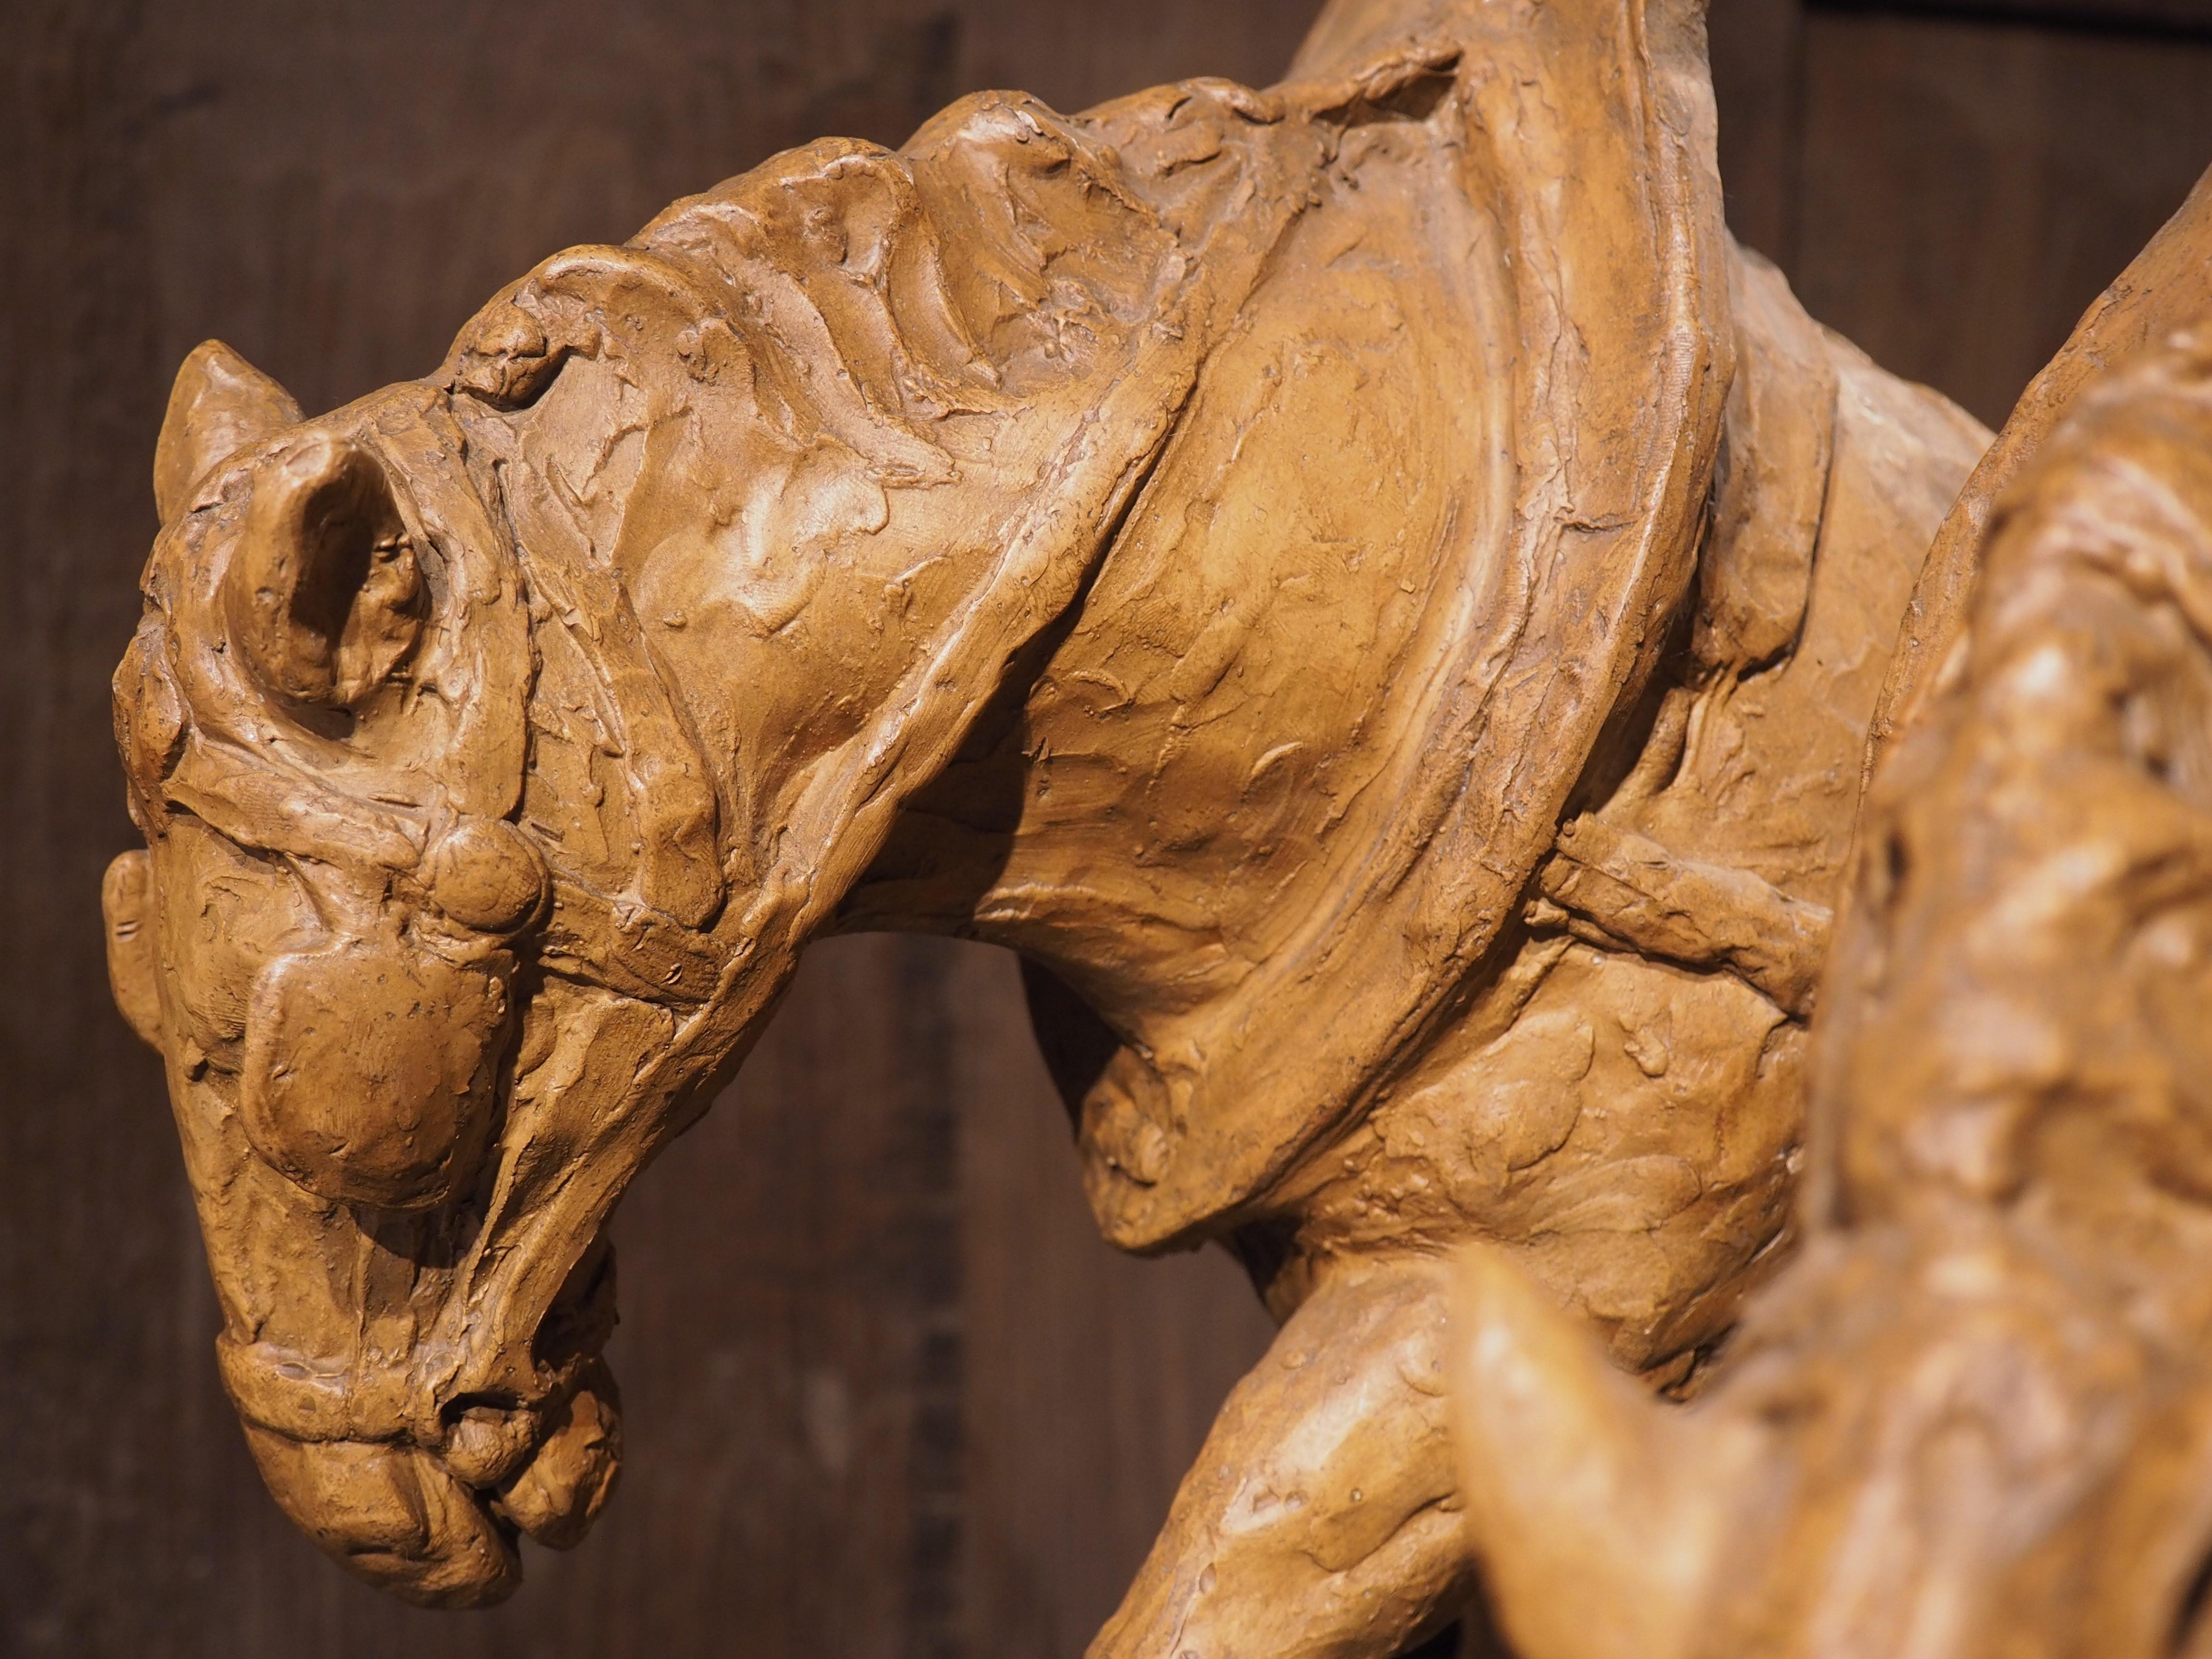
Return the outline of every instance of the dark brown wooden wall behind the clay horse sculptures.
[[[0,1659],[1082,1650],[1267,1327],[1225,1261],[1091,1237],[1011,962],[925,940],[810,958],[624,1208],[630,1471],[586,1546],[489,1615],[323,1564],[217,1391],[159,1077],[106,1002],[106,677],[195,341],[323,409],[774,148],[987,84],[1265,82],[1310,11],[0,2]],[[1714,58],[1739,232],[1991,422],[2212,159],[2185,35],[1717,0]]]

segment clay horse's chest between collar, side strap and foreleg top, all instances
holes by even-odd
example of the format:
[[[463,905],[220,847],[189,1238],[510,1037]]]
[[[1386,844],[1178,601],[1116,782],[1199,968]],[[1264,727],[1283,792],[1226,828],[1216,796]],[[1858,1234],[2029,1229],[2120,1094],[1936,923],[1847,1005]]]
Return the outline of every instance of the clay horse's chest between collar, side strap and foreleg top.
[[[1803,1029],[1767,998],[1531,938],[1316,1159],[1285,1290],[1334,1256],[1486,1237],[1648,1369],[1725,1327],[1787,1221],[1801,1133]]]

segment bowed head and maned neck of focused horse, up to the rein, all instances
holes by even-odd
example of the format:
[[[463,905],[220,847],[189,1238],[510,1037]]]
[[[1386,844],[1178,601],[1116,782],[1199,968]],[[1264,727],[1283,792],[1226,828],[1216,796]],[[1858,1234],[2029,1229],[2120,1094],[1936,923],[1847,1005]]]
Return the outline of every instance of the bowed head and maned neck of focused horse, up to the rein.
[[[617,1197],[1077,597],[1321,144],[1225,84],[984,95],[560,254],[314,420],[188,358],[111,971],[226,1387],[349,1568],[471,1604],[582,1535]]]

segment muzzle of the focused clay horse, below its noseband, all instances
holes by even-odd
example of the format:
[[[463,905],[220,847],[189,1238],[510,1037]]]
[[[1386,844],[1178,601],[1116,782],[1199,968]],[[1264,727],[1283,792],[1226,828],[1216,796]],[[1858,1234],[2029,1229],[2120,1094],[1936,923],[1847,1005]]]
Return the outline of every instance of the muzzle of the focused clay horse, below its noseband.
[[[270,1495],[325,1555],[434,1608],[507,1599],[522,1582],[518,1535],[571,1548],[622,1473],[619,1396],[597,1360],[542,1416],[469,1411],[440,1449],[296,1440],[254,1422],[246,1440]]]

